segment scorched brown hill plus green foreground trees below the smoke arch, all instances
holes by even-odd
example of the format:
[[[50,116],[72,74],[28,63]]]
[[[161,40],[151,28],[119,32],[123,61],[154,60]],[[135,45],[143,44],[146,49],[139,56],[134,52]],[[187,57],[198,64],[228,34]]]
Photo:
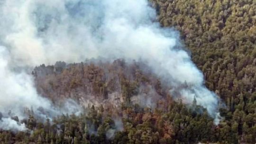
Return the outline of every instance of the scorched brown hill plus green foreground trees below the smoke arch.
[[[27,131],[2,131],[2,143],[195,143],[214,141],[218,138],[215,133],[222,131],[196,101],[192,106],[184,105],[182,99],[175,102],[168,94],[170,88],[143,63],[57,62],[42,64],[32,74],[39,94],[57,104],[75,99],[83,110],[52,122],[37,120],[30,113],[28,119],[21,120]]]

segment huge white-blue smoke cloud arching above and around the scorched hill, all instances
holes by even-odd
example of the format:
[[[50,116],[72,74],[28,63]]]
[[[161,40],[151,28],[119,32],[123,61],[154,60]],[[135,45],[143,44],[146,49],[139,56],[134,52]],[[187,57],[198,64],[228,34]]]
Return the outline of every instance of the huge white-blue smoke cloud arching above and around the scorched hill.
[[[51,109],[37,95],[27,68],[123,58],[148,64],[168,81],[173,95],[186,103],[196,98],[218,124],[217,96],[205,88],[178,33],[161,28],[155,19],[147,0],[0,1],[0,111],[11,108],[19,115],[21,107]]]

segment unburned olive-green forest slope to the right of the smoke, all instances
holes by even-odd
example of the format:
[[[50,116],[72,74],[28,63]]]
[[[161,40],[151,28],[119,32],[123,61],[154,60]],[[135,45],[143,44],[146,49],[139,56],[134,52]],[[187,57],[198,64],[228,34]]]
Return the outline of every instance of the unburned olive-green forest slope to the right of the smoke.
[[[256,1],[152,1],[163,27],[181,32],[207,87],[225,101],[225,135],[255,143]]]

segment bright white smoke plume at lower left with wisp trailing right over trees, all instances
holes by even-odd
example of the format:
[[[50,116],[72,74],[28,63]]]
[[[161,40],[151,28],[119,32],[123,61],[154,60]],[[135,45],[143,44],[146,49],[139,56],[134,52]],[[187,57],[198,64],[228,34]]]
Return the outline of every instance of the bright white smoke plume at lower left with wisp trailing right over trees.
[[[11,119],[18,116],[19,119],[26,117],[25,108],[35,108],[35,116],[46,120],[61,113],[79,112],[77,104],[73,100],[67,99],[61,108],[53,107],[52,103],[37,95],[33,85],[31,75],[24,69],[15,72],[12,65],[10,54],[6,47],[0,46],[0,129],[20,131],[26,130],[24,124],[19,124]]]

